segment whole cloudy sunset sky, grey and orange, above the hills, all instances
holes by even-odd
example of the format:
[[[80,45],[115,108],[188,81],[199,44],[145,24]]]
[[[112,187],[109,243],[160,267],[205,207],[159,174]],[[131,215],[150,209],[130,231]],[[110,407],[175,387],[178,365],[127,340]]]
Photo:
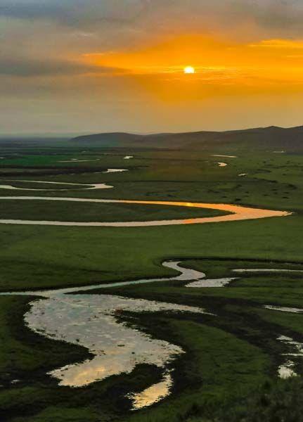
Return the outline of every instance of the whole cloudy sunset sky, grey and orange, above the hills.
[[[301,125],[302,20],[302,0],[0,0],[0,134]]]

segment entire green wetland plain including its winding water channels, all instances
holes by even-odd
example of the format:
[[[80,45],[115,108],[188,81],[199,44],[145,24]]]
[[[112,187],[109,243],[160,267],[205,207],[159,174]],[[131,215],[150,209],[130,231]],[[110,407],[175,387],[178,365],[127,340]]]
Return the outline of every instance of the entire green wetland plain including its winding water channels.
[[[83,150],[1,149],[1,420],[266,421],[301,397],[302,156]]]

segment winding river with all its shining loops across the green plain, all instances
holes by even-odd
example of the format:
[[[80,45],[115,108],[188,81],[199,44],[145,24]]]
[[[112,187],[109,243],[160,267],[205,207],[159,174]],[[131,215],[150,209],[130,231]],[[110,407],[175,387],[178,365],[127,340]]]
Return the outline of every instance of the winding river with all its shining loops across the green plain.
[[[63,182],[42,182],[65,184]],[[74,185],[74,184],[72,184]],[[78,185],[79,184],[75,184]],[[81,186],[81,185],[80,185]],[[104,184],[82,185],[84,188],[112,187]],[[86,187],[88,186],[88,187]],[[13,188],[13,186],[0,186]],[[26,189],[32,190],[32,189]],[[39,189],[37,189],[39,190]],[[141,226],[168,226],[173,224],[204,224],[217,222],[235,222],[247,219],[261,219],[266,217],[285,217],[290,212],[264,210],[241,205],[224,203],[190,203],[162,200],[114,200],[92,198],[60,198],[43,196],[1,196],[0,200],[52,200],[81,203],[128,203],[137,205],[163,205],[179,207],[196,207],[228,212],[227,215],[217,217],[198,217],[192,219],[170,219],[145,222],[60,222],[24,219],[0,219],[1,224],[31,224],[40,226],[112,226],[112,227],[141,227]],[[149,386],[141,392],[129,392],[133,409],[141,409],[163,397],[169,395],[172,387],[171,363],[176,357],[184,353],[179,345],[157,340],[142,331],[135,324],[126,324],[121,316],[124,312],[191,312],[208,314],[200,307],[177,305],[167,302],[156,302],[143,299],[124,298],[117,295],[86,294],[96,288],[114,288],[131,284],[184,281],[188,288],[224,287],[238,277],[224,279],[206,279],[205,273],[180,266],[180,262],[163,262],[164,267],[179,271],[178,276],[166,279],[143,279],[124,281],[119,283],[98,284],[58,290],[26,291],[19,293],[1,293],[1,295],[29,295],[39,297],[31,302],[30,311],[25,314],[25,323],[32,331],[55,340],[64,340],[67,343],[82,345],[91,353],[91,358],[84,362],[70,364],[63,368],[53,369],[49,374],[58,379],[59,385],[79,388],[96,381],[101,381],[112,375],[131,373],[139,364],[150,364],[162,370],[162,377],[158,383]],[[250,271],[238,269],[236,272]],[[262,271],[256,269],[253,271]],[[263,270],[271,271],[271,270]],[[280,270],[277,270],[280,271]],[[78,293],[74,295],[72,293]],[[268,305],[268,309],[271,309]],[[212,315],[212,314],[210,314]],[[291,342],[290,340],[285,340]],[[291,364],[289,364],[291,366]],[[286,368],[287,369],[287,368]],[[286,371],[285,369],[285,371]],[[294,371],[289,368],[289,376]],[[285,376],[283,368],[281,376]],[[293,372],[293,373],[292,373]]]

